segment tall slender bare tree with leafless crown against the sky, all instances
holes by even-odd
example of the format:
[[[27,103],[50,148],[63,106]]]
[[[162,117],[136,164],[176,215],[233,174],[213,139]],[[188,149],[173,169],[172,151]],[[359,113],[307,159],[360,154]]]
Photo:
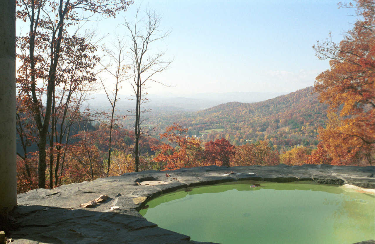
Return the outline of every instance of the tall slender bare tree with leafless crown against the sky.
[[[163,60],[165,52],[153,52],[151,46],[169,35],[170,31],[163,32],[160,25],[160,15],[153,10],[147,10],[145,18],[140,18],[137,9],[133,24],[125,20],[124,26],[130,34],[130,54],[132,55],[133,82],[131,83],[136,100],[135,105],[135,142],[133,153],[135,157],[135,172],[139,169],[139,139],[146,132],[142,131],[141,124],[145,120],[141,114],[147,110],[142,104],[147,100],[144,97],[145,85],[156,81],[154,75],[165,70],[171,61]]]

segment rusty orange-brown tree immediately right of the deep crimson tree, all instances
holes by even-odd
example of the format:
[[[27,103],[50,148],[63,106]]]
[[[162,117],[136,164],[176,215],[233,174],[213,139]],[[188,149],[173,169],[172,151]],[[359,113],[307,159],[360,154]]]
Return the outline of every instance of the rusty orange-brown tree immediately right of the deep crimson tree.
[[[236,155],[231,160],[231,166],[278,164],[278,151],[273,151],[266,141],[237,146]]]

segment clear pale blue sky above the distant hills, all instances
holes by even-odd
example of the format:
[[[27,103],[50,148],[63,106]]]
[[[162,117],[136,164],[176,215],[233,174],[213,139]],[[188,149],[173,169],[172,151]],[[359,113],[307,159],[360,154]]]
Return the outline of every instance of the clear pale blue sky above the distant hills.
[[[137,5],[163,15],[161,27],[172,33],[155,48],[174,57],[148,93],[267,91],[292,92],[313,85],[328,61],[315,57],[312,45],[332,31],[333,40],[351,29],[354,10],[334,0],[134,0],[116,19],[99,22],[101,34],[124,34],[117,26],[132,21]],[[111,37],[107,37],[107,40]],[[122,93],[130,93],[124,86]]]

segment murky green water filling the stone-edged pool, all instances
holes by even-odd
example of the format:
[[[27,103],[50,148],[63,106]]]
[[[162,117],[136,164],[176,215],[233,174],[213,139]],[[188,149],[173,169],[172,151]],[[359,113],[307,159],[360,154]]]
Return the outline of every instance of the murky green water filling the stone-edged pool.
[[[375,239],[374,195],[312,183],[254,184],[184,189],[147,202],[139,213],[194,241],[349,244]]]

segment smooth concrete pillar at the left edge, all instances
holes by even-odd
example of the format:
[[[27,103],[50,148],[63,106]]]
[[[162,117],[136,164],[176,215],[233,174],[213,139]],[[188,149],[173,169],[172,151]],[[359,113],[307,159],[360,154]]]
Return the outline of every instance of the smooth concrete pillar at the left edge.
[[[0,217],[17,205],[15,0],[0,0]]]

